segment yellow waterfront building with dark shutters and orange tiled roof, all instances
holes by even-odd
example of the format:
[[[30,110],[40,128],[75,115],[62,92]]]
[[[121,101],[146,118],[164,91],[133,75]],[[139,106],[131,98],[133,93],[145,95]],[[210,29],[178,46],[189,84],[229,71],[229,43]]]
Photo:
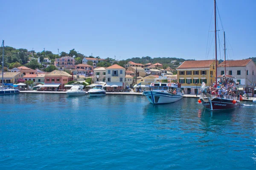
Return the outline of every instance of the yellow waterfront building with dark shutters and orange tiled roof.
[[[215,60],[184,61],[176,70],[184,94],[195,95],[203,82],[211,86],[215,81]]]

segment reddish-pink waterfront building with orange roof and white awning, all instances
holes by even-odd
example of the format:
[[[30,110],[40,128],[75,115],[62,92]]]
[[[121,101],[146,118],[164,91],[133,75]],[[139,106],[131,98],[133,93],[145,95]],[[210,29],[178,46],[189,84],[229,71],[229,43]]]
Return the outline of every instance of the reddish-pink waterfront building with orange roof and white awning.
[[[61,70],[53,70],[44,76],[45,84],[43,87],[64,89],[64,85],[69,81],[73,81],[72,75]]]

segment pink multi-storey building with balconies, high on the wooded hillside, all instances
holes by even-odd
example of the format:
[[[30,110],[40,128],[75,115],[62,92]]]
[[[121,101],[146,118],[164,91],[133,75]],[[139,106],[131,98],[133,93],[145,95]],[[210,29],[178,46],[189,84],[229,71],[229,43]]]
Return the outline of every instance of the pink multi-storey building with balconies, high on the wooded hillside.
[[[74,69],[75,59],[69,56],[55,58],[54,65],[58,68],[58,70]]]

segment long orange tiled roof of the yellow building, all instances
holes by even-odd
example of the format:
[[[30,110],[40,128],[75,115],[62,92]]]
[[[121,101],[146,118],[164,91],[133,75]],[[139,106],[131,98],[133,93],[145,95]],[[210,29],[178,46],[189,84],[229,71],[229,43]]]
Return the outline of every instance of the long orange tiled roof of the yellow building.
[[[209,68],[213,62],[215,62],[215,60],[184,61],[177,69]]]

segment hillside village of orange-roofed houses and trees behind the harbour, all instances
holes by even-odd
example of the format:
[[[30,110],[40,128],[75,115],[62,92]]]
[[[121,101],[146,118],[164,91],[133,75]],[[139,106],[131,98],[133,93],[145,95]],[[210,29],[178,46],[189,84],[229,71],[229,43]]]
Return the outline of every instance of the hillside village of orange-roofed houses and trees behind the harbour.
[[[110,86],[117,85],[116,89],[133,88],[135,84],[143,88],[148,87],[156,78],[166,78],[181,83],[185,94],[197,94],[202,82],[210,86],[216,75],[215,60],[147,56],[118,61],[87,57],[75,49],[70,50],[69,54],[61,52],[54,55],[50,51],[36,53],[6,46],[4,60],[4,83],[25,82],[30,86],[41,84],[46,88],[57,89],[65,89],[67,84],[76,81],[84,82],[85,85],[103,82]],[[226,63],[220,61],[217,63],[217,75],[226,73],[233,76],[241,90],[251,93],[256,86],[256,64],[253,60],[255,58]]]

